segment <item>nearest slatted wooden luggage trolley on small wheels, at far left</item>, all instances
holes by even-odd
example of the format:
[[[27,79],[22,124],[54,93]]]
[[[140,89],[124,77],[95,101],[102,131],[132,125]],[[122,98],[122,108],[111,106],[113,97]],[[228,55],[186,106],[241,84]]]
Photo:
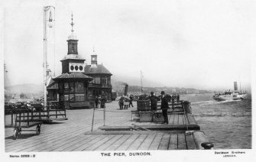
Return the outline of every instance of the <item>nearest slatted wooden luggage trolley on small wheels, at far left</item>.
[[[40,110],[39,110],[40,111]],[[15,110],[15,129],[13,139],[16,140],[21,131],[36,131],[39,135],[41,132],[41,112],[31,109],[16,109]],[[36,126],[34,130],[22,130],[21,128],[31,128]]]

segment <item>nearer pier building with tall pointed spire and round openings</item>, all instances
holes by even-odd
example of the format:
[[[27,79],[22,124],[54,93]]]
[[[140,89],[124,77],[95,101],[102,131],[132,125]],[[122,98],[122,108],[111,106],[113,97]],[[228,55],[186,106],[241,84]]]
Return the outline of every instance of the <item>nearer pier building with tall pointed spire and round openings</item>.
[[[92,77],[84,73],[85,58],[78,53],[76,34],[73,32],[67,40],[68,52],[61,61],[62,74],[53,78],[47,86],[48,99],[58,100],[66,108],[89,106],[88,85]]]

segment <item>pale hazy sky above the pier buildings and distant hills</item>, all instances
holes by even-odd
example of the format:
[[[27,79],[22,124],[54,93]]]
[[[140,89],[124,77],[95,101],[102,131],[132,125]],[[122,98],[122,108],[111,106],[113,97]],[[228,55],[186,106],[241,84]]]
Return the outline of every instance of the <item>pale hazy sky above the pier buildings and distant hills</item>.
[[[79,54],[92,47],[113,77],[129,85],[232,89],[251,83],[252,1],[6,1],[4,60],[11,85],[43,83],[43,8],[53,5],[55,71],[67,53],[70,18]],[[53,30],[48,62],[54,71]]]

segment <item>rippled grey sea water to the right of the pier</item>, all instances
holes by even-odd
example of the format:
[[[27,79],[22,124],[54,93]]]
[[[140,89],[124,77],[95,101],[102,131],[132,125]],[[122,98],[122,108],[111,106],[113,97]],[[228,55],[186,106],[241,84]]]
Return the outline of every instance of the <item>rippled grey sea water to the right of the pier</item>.
[[[251,148],[251,99],[216,102],[213,94],[183,95],[215,149]]]

